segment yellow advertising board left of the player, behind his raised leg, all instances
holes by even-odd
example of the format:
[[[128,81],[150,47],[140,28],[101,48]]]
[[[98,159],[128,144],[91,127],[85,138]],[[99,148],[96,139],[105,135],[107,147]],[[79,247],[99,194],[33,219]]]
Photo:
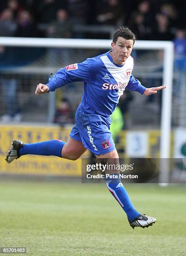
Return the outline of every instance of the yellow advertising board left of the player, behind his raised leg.
[[[7,164],[5,155],[12,139],[35,143],[52,139],[67,141],[71,128],[38,125],[0,125],[0,172],[17,174],[47,174],[60,176],[81,176],[81,159],[70,161],[57,156],[26,155]]]

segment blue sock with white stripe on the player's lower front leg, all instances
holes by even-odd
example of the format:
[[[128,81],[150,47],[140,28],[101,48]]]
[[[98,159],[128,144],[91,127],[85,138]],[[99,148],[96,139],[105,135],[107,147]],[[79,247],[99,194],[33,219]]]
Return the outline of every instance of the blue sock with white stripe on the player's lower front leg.
[[[111,175],[114,175],[115,177],[112,178]],[[128,219],[134,220],[134,218],[136,218],[140,213],[137,212],[132,205],[131,200],[121,182],[121,179],[119,179],[119,174],[111,175],[109,178],[106,179],[109,191],[122,206],[123,210],[126,212]]]

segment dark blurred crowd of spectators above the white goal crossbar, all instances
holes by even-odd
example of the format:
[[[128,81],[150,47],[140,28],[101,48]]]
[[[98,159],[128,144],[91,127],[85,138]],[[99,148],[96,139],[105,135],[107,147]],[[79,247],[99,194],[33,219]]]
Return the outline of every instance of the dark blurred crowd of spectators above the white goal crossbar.
[[[137,39],[172,40],[186,28],[185,13],[185,0],[7,0],[0,2],[0,36],[73,38],[82,37],[74,25],[124,25]]]

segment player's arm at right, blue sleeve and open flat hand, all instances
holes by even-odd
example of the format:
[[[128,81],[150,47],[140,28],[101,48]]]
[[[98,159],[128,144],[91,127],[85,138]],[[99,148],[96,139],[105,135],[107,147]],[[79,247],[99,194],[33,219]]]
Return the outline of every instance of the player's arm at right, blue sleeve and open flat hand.
[[[130,91],[136,91],[141,94],[144,94],[145,96],[149,96],[151,94],[157,93],[160,90],[165,89],[166,86],[161,85],[159,87],[146,88],[141,84],[141,82],[139,82],[138,79],[136,79],[133,75],[131,75],[129,79],[129,83],[127,84],[126,88]]]

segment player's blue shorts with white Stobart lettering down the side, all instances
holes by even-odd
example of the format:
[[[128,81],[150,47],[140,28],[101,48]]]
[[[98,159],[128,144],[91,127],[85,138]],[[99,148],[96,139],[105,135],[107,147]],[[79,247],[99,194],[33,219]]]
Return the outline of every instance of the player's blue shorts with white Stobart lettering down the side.
[[[69,135],[82,142],[94,155],[104,155],[116,149],[109,131],[111,123],[110,117],[84,113],[79,106],[75,114],[75,125]]]

